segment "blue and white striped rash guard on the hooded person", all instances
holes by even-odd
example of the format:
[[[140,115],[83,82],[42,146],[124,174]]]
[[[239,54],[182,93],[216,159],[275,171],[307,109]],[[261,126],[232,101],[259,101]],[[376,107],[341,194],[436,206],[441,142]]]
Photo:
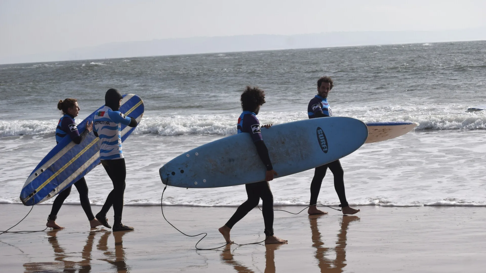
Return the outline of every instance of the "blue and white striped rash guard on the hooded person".
[[[123,158],[121,152],[121,124],[130,124],[130,118],[120,111],[104,106],[93,118],[93,130],[100,138],[100,160]]]

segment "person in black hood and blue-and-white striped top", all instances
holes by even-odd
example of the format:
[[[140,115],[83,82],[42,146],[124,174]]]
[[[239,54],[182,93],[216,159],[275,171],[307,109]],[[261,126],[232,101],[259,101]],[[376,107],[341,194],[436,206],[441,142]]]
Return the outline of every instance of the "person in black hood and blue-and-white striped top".
[[[121,124],[135,127],[137,120],[125,117],[120,111],[121,96],[117,89],[111,88],[104,96],[104,107],[93,118],[93,131],[100,138],[100,160],[104,170],[113,182],[113,190],[108,194],[106,202],[96,218],[108,228],[111,226],[106,219],[106,213],[113,205],[113,231],[133,230],[131,226],[121,223],[123,210],[123,193],[125,191],[125,159],[121,152]]]

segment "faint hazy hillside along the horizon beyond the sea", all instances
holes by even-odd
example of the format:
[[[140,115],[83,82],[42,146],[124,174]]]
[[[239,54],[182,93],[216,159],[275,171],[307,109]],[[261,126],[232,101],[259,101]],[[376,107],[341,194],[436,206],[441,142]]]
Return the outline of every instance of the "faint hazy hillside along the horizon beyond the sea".
[[[66,60],[262,51],[402,43],[486,40],[486,28],[452,31],[332,32],[298,35],[237,35],[108,43],[63,52],[0,58],[0,64]]]

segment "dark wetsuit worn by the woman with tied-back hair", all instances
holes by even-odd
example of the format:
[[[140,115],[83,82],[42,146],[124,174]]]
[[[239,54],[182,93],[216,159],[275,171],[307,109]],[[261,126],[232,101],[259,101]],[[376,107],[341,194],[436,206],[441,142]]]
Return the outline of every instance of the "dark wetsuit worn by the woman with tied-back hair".
[[[88,130],[85,130],[82,134],[79,134],[78,128],[76,127],[76,123],[74,122],[74,117],[66,114],[64,115],[61,119],[59,119],[59,123],[57,124],[56,128],[56,142],[59,143],[59,141],[69,135],[71,137],[71,140],[79,144],[83,141],[83,139],[89,134]],[[79,192],[79,200],[81,202],[81,206],[83,207],[83,210],[86,213],[86,216],[89,221],[94,219],[93,212],[91,211],[91,205],[89,203],[89,198],[88,198],[88,186],[86,184],[85,178],[81,178],[78,181],[74,183],[74,186],[76,186],[76,189]],[[51,209],[51,214],[49,215],[49,220],[56,220],[57,219],[57,213],[59,212],[59,209],[61,209],[62,204],[68,198],[69,194],[71,193],[71,188],[72,185],[69,186],[68,188],[65,188],[63,191],[61,191],[59,194],[57,194],[56,198],[54,199],[54,203],[52,204],[52,209]]]

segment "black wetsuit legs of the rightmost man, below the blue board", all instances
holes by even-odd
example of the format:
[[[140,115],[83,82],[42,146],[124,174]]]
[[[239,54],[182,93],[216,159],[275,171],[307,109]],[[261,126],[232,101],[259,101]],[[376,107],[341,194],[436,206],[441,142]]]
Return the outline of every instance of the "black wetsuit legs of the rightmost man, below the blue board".
[[[324,176],[326,176],[326,171],[328,168],[334,176],[334,189],[336,190],[337,196],[339,197],[339,202],[341,202],[340,206],[347,206],[348,204],[346,201],[346,192],[344,189],[344,171],[343,167],[341,167],[341,162],[339,160],[315,168],[314,177],[312,178],[311,183],[310,205],[317,204],[317,197],[319,196],[322,180],[324,179]]]

